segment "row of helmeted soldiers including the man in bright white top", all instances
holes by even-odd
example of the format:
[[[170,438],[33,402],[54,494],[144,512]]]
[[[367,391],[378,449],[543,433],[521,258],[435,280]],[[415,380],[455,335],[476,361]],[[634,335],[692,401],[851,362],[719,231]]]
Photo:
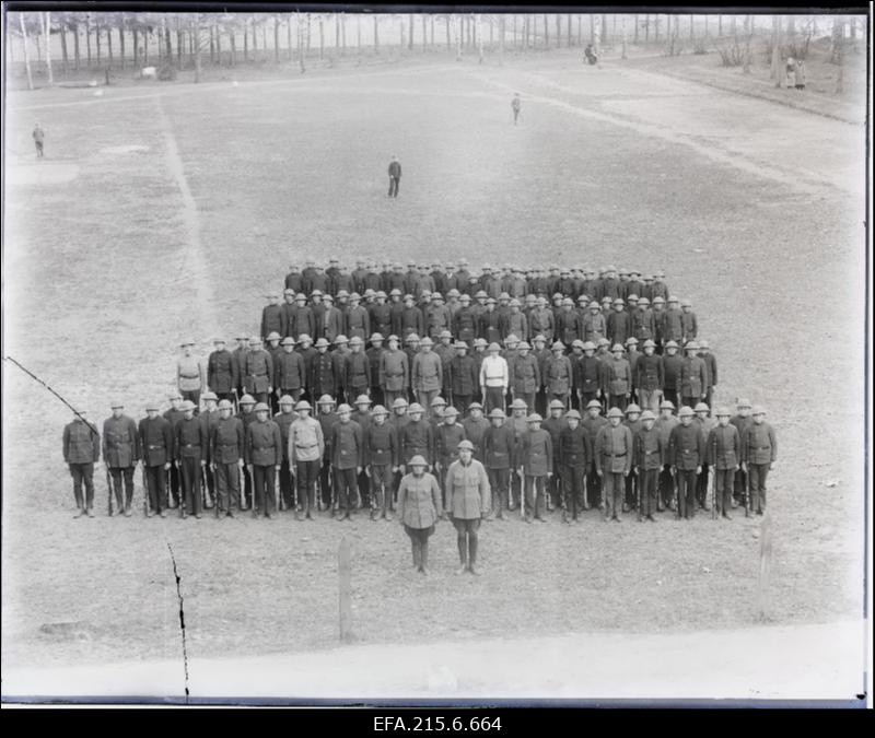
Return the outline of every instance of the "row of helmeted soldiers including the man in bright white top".
[[[634,337],[612,347],[602,338],[596,343],[574,339],[570,347],[555,341],[548,348],[542,335],[529,344],[512,333],[503,345],[475,339],[471,348],[444,331],[436,344],[428,336],[410,335],[401,349],[398,336],[384,341],[381,333],[371,336],[370,343],[365,349],[361,338],[339,336],[334,347],[324,338],[314,347],[308,335],[280,340],[271,333],[266,349],[254,336],[240,339],[232,352],[218,338],[205,368],[192,355],[194,341],[185,341],[176,366],[177,388],[196,406],[205,390],[232,402],[248,394],[273,412],[287,395],[311,402],[323,395],[338,402],[368,395],[387,407],[398,397],[430,407],[440,395],[459,412],[475,399],[489,413],[518,398],[530,411],[545,414],[552,400],[581,412],[592,400],[605,411],[637,401],[658,413],[662,399],[677,407],[699,401],[710,406],[718,386],[716,358],[704,340],[688,341],[685,355],[675,341],[665,344],[662,355],[652,339],[639,351]]]

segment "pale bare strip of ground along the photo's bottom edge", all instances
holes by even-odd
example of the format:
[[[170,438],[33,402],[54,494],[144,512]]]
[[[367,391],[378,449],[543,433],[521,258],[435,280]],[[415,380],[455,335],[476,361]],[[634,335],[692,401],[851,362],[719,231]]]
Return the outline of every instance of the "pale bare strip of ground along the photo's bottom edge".
[[[832,699],[864,690],[863,623],[474,639],[189,661],[198,698]],[[521,669],[525,664],[525,669]],[[7,669],[5,694],[179,696],[180,661]],[[86,686],[86,687],[85,687]]]

